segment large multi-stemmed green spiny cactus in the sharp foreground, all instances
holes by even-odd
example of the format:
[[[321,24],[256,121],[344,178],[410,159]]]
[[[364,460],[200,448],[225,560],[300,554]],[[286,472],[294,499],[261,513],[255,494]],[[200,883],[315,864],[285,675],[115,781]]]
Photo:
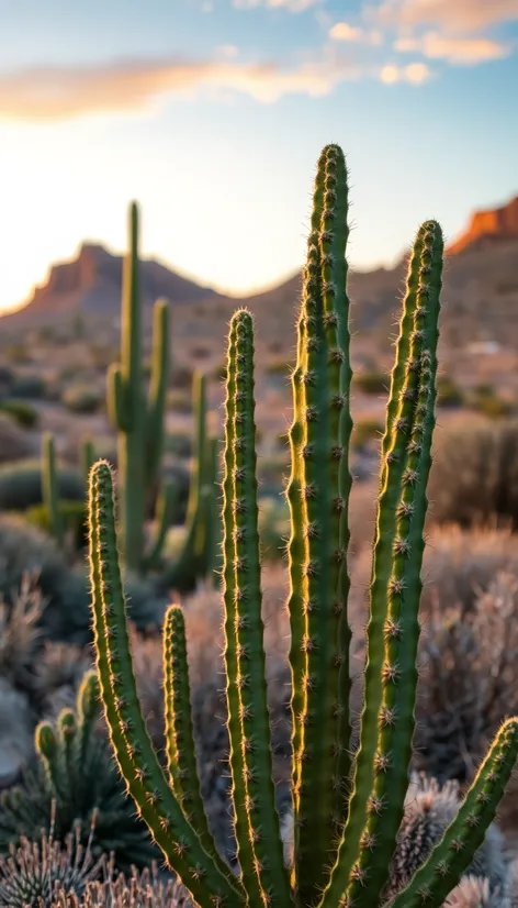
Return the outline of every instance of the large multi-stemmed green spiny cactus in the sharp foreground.
[[[293,719],[293,870],[272,784],[259,561],[254,325],[230,322],[223,481],[225,668],[239,875],[222,864],[199,799],[189,726],[181,610],[170,612],[169,779],[139,708],[117,553],[113,476],[90,474],[90,572],[101,696],[120,769],[139,815],[195,903],[228,908],[379,908],[404,816],[417,686],[426,486],[435,422],[443,241],[419,229],[409,262],[386,429],[374,539],[360,746],[351,756],[347,522],[351,434],[346,290],[347,170],[320,155],[293,373],[289,542]],[[180,660],[181,665],[178,665]],[[518,753],[518,719],[495,741],[459,811],[393,908],[439,908],[473,861]],[[187,786],[187,787],[185,787]]]

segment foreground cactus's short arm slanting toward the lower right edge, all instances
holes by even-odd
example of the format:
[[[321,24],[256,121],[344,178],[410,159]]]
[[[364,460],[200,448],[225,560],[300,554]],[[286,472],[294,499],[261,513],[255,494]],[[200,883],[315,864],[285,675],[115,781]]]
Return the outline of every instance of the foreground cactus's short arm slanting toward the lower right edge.
[[[495,819],[518,756],[518,718],[508,719],[482,763],[459,812],[391,908],[440,908],[459,884]]]

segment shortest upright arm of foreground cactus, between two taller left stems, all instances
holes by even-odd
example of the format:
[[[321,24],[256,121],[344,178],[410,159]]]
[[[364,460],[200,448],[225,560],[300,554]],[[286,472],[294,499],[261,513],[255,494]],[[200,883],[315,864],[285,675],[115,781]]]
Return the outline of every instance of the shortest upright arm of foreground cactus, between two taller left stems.
[[[164,690],[166,753],[172,788],[206,853],[230,878],[232,871],[216,851],[201,796],[191,716],[185,623],[180,606],[170,606],[164,622]]]

